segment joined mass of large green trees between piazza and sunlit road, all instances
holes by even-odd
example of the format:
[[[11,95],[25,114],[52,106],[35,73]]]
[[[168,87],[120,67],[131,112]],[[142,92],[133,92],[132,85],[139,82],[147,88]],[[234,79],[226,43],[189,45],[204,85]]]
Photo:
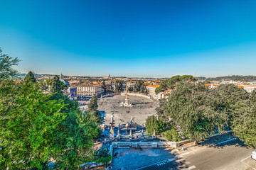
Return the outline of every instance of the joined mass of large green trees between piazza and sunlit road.
[[[188,139],[199,142],[231,128],[246,145],[256,147],[256,91],[248,94],[234,84],[208,89],[183,82],[159,101],[159,118],[171,120]]]

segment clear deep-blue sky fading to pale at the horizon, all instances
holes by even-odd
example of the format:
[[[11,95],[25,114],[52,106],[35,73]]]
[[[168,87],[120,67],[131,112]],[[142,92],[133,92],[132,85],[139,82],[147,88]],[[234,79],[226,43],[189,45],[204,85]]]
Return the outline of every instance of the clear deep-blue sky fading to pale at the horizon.
[[[0,47],[22,73],[256,75],[256,1],[0,0]]]

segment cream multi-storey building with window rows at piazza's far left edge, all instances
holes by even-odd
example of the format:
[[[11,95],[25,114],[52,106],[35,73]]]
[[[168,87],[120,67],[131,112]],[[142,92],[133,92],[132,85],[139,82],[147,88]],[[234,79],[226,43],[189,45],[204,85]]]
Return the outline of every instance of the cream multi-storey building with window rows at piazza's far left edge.
[[[78,96],[99,96],[104,93],[104,89],[100,84],[81,84],[77,86]]]

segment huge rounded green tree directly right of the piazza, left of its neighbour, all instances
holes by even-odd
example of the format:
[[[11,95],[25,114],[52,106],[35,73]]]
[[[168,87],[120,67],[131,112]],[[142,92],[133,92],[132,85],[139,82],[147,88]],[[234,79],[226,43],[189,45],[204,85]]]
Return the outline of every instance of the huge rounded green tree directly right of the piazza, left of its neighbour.
[[[159,118],[171,118],[183,135],[199,142],[213,134],[215,127],[222,132],[228,121],[225,109],[217,108],[210,93],[203,84],[181,83],[156,111]]]

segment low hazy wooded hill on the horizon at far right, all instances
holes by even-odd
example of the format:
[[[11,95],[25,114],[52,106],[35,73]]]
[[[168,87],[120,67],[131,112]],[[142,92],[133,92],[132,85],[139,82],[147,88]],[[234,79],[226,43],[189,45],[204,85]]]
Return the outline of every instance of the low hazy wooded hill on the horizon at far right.
[[[256,81],[256,76],[225,76],[225,77],[208,77],[206,81]]]

